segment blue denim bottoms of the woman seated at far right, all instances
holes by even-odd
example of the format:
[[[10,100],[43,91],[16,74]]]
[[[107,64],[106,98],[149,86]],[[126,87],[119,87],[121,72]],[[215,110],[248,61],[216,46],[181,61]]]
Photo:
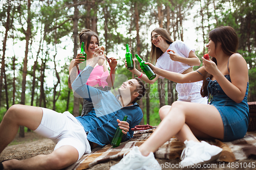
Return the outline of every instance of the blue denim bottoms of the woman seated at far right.
[[[241,103],[236,103],[230,98],[223,98],[217,95],[210,103],[215,106],[222,118],[224,125],[223,141],[232,141],[243,138],[247,132],[249,124],[249,108],[244,99]]]

